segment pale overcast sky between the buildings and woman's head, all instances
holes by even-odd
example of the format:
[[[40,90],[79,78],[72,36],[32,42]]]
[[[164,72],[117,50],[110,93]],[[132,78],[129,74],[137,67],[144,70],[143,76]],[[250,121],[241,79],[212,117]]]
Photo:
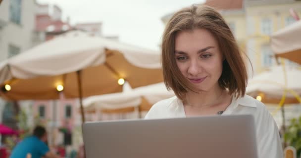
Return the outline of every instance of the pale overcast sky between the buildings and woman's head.
[[[56,4],[62,20],[71,24],[102,22],[104,36],[119,36],[121,42],[159,50],[164,24],[161,18],[204,0],[37,0]]]

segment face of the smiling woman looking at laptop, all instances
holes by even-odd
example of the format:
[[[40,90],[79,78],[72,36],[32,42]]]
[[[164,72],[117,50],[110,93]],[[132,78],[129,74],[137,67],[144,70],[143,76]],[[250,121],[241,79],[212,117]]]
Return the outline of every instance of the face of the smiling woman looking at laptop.
[[[213,35],[205,29],[179,32],[175,39],[175,59],[186,79],[201,91],[218,85],[223,56]]]

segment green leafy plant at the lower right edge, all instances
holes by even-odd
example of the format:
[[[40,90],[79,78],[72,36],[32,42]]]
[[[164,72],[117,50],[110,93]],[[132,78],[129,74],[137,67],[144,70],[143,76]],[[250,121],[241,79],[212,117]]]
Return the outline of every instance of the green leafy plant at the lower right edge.
[[[291,123],[284,134],[284,140],[289,146],[296,148],[299,158],[301,154],[301,116],[291,119]]]

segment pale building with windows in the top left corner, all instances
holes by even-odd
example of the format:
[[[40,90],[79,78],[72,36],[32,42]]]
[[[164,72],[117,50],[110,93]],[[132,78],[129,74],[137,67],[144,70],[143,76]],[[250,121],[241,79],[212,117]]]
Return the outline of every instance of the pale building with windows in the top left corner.
[[[32,47],[35,0],[3,0],[0,5],[0,61]]]

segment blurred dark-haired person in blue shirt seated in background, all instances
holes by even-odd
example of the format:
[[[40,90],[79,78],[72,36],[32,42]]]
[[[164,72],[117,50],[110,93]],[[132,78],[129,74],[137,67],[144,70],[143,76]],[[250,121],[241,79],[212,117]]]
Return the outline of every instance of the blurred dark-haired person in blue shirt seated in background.
[[[10,158],[61,158],[52,153],[47,145],[47,131],[36,126],[33,135],[19,142],[12,150]]]

